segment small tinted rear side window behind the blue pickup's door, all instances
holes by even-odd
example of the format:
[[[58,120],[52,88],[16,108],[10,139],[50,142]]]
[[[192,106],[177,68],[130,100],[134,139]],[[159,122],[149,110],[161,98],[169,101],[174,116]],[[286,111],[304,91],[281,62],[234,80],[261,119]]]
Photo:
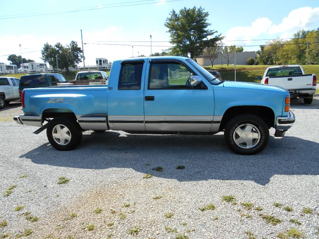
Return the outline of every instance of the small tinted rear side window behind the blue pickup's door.
[[[119,77],[119,90],[140,90],[144,63],[122,64]]]

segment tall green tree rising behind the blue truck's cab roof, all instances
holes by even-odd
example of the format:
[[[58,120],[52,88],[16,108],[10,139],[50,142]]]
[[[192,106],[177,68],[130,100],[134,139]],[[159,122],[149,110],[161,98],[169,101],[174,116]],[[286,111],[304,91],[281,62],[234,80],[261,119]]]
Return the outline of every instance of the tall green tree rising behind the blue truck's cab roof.
[[[208,29],[211,25],[207,22],[208,15],[204,8],[196,6],[184,7],[179,12],[173,9],[170,12],[164,25],[170,33],[170,43],[174,45],[171,52],[174,55],[189,55],[194,58],[199,56],[205,47],[222,39],[221,34],[216,34],[217,31]]]

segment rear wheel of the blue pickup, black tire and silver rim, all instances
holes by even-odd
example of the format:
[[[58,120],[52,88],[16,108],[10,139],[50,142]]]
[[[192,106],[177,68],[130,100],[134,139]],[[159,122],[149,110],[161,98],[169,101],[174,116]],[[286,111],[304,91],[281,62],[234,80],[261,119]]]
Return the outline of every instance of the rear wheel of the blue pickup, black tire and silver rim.
[[[63,132],[58,135],[60,130]],[[53,133],[56,133],[57,137],[54,137]],[[72,150],[80,144],[82,140],[82,130],[80,130],[80,126],[75,119],[56,117],[49,122],[46,128],[46,136],[51,145],[57,150]],[[61,137],[65,139],[61,139]]]

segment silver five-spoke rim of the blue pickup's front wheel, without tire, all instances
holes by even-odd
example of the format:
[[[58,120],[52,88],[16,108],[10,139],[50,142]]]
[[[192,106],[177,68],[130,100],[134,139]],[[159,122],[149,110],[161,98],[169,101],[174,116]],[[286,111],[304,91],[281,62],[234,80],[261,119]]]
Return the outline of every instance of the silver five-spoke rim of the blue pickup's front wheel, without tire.
[[[241,148],[253,148],[260,141],[259,129],[250,123],[239,125],[233,133],[234,142]]]

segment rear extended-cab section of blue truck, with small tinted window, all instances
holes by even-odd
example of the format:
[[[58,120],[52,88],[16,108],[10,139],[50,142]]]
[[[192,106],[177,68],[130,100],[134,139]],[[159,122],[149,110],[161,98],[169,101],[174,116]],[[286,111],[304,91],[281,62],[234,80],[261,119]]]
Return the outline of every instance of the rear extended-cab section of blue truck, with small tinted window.
[[[118,61],[108,85],[108,121],[111,129],[145,131],[144,60]]]

